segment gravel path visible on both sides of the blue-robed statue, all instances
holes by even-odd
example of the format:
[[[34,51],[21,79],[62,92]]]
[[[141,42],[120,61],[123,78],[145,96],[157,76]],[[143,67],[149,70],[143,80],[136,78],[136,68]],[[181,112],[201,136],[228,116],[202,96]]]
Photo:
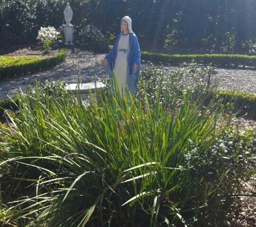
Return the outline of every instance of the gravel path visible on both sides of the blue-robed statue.
[[[88,51],[67,50],[65,62],[58,66],[38,73],[10,77],[0,81],[0,100],[12,96],[13,91],[18,88],[25,89],[29,84],[34,84],[37,80],[41,83],[48,81],[62,80],[68,83],[77,83],[78,75],[80,81],[89,83],[96,80],[105,79],[106,73],[101,66],[101,60],[105,54],[94,54]],[[169,67],[174,70],[175,67]],[[220,88],[247,91],[256,94],[256,69],[255,68],[236,68],[224,69],[217,68],[213,76],[220,80]]]

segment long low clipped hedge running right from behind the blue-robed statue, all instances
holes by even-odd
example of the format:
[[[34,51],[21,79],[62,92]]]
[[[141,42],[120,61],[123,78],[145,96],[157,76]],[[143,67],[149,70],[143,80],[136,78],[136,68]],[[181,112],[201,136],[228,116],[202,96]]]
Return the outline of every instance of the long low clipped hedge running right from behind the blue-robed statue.
[[[213,66],[256,66],[256,56],[241,54],[162,54],[141,52],[144,61],[170,63],[179,65],[181,63],[198,63]]]

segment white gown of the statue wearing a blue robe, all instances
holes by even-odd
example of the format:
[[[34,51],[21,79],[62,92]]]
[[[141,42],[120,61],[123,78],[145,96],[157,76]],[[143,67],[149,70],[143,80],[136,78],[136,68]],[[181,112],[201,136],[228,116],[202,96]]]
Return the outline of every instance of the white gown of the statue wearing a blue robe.
[[[124,93],[124,89],[126,88],[126,76],[129,75],[128,54],[129,34],[122,34],[117,45],[117,55],[114,63],[117,86],[121,94]]]

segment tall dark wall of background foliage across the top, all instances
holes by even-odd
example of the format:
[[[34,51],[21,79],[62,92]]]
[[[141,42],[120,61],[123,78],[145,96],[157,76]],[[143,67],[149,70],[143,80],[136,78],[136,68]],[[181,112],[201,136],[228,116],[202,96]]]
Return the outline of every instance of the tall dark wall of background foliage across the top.
[[[71,0],[72,24],[84,19],[103,34],[119,33],[120,19],[129,15],[144,49],[185,53],[223,52],[254,54],[255,0]],[[64,24],[64,0],[2,0],[1,46],[34,41],[40,26]],[[13,16],[15,15],[15,17]]]

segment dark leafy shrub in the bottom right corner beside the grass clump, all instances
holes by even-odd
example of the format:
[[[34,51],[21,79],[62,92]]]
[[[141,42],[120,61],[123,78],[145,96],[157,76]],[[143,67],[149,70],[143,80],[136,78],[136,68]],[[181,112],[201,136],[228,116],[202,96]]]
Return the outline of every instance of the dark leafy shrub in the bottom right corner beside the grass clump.
[[[243,185],[255,173],[255,131],[237,129],[224,122],[220,134],[209,138],[213,143],[190,141],[186,160],[191,176],[198,180],[194,185],[195,201],[207,201],[202,209],[195,204],[196,218],[191,226],[229,226],[227,213],[239,210],[235,205],[238,195],[243,195]]]

